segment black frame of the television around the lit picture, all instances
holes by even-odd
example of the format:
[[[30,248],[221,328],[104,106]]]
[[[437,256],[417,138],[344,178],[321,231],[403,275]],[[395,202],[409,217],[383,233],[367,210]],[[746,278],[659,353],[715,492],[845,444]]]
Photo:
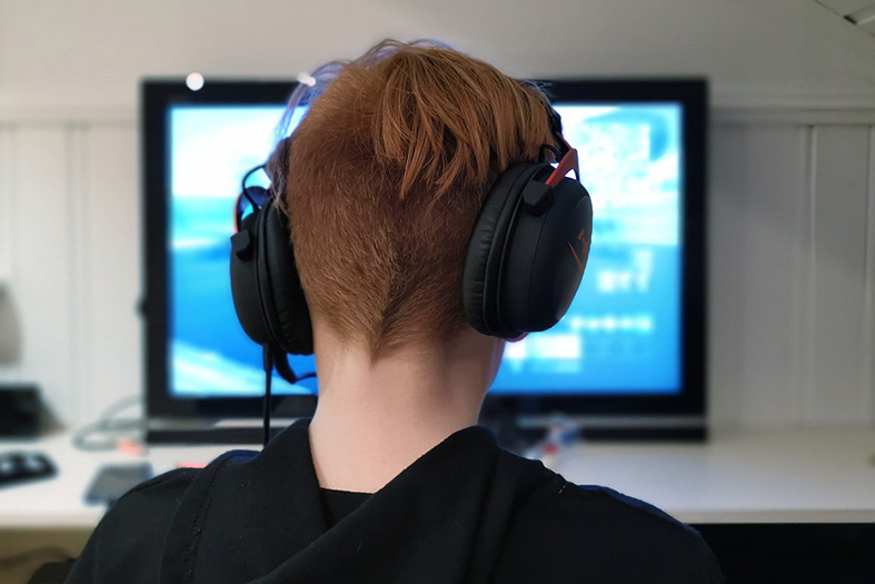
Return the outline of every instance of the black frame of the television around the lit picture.
[[[142,205],[145,217],[146,386],[150,418],[258,417],[260,397],[172,397],[168,386],[167,201],[169,111],[176,105],[282,105],[292,81],[208,80],[198,91],[182,79],[141,85]],[[670,79],[558,79],[544,81],[556,103],[683,105],[682,388],[676,394],[488,394],[486,408],[519,415],[563,412],[595,416],[704,416],[706,395],[706,129],[707,81]],[[275,395],[274,415],[311,415],[315,395]]]

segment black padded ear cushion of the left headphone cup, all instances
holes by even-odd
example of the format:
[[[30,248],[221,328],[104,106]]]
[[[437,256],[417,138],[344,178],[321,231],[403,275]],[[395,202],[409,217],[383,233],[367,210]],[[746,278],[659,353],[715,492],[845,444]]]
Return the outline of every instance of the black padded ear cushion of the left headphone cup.
[[[258,281],[270,336],[286,353],[310,355],[312,324],[295,263],[291,230],[274,200],[261,210],[258,231]]]

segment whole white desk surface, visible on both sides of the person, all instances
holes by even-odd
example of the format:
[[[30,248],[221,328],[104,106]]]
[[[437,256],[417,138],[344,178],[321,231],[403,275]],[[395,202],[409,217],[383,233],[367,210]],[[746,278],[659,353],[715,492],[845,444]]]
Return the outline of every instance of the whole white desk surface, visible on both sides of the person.
[[[165,446],[137,456],[80,452],[67,434],[0,442],[0,452],[46,452],[59,469],[51,481],[0,488],[0,531],[90,531],[103,508],[86,505],[83,495],[99,466],[148,459],[160,473],[228,448]],[[581,444],[553,467],[688,523],[875,522],[873,455],[873,429],[760,430],[718,434],[705,445]]]

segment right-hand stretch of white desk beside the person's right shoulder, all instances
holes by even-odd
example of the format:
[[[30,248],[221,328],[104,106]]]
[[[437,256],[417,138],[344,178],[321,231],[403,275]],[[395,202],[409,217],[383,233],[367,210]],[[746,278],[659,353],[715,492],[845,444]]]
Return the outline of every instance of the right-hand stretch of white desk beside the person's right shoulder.
[[[705,445],[580,445],[551,465],[687,523],[875,522],[875,430],[747,430]]]

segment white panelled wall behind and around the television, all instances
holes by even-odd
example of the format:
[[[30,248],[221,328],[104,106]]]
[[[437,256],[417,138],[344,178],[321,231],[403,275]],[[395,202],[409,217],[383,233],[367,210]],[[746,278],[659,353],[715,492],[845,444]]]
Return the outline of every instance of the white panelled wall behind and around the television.
[[[388,36],[709,76],[713,415],[875,420],[875,37],[813,0],[0,0],[0,380],[69,423],[141,390],[140,77],[287,78]]]

